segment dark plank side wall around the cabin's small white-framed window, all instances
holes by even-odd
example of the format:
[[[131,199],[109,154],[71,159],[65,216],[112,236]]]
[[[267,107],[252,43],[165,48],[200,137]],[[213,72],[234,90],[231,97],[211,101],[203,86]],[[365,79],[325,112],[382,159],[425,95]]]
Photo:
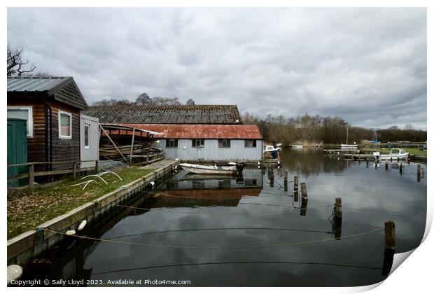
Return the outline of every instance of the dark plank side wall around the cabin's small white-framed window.
[[[59,104],[49,103],[52,108],[52,161],[80,162],[80,112],[78,109]],[[71,139],[59,138],[59,110],[71,113],[72,136]],[[71,164],[53,165],[52,169],[71,169]]]

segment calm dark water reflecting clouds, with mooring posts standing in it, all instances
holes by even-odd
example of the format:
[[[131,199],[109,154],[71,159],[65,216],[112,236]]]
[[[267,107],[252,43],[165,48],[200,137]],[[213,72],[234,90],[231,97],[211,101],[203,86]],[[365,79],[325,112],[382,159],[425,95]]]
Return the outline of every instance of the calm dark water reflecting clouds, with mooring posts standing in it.
[[[384,228],[384,221],[393,220],[397,253],[420,244],[426,222],[426,165],[418,181],[414,163],[400,174],[397,165],[385,171],[384,165],[376,169],[372,162],[367,166],[337,160],[314,149],[286,149],[281,160],[283,167],[272,171],[244,169],[244,179],[238,181],[180,172],[160,185],[160,197],[132,204],[150,211],[126,209],[98,232],[89,232],[92,237],[159,246],[80,240],[67,250],[59,248],[57,257],[52,251],[29,263],[25,278],[363,286],[385,278],[384,232],[346,236]],[[284,171],[289,174],[288,193],[283,190]],[[293,176],[307,183],[307,203],[294,202]],[[342,198],[341,239],[334,239],[330,218],[335,197]],[[302,205],[306,209],[300,209]],[[323,239],[330,240],[300,243]]]

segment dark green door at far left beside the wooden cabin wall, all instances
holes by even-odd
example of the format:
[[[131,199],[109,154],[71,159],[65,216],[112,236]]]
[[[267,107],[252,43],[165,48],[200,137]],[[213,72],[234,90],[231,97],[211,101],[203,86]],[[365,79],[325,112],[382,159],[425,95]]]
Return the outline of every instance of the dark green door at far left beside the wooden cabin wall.
[[[8,118],[8,165],[27,162],[27,120]],[[27,166],[8,167],[8,177],[27,172]],[[24,186],[29,179],[10,180],[8,187]]]

